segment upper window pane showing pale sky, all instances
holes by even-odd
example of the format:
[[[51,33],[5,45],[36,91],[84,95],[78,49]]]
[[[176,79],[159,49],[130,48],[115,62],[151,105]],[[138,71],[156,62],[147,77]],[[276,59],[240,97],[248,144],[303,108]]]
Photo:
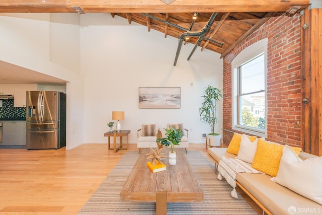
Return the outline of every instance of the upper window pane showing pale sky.
[[[240,66],[240,94],[265,89],[264,54]]]

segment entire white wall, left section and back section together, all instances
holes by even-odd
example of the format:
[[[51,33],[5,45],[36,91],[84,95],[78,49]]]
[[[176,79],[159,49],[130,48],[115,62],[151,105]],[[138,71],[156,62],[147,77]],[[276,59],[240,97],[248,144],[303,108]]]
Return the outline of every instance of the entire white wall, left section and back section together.
[[[200,135],[209,127],[200,122],[198,108],[208,84],[222,88],[219,54],[198,48],[187,61],[193,48],[187,44],[173,66],[177,39],[110,14],[1,14],[0,32],[5,32],[0,34],[0,60],[67,82],[66,149],[106,143],[104,132],[115,110],[125,111],[121,123],[131,130],[132,143],[143,122],[161,128],[183,122],[190,142],[205,142]],[[181,108],[139,109],[138,87],[181,87]],[[221,133],[221,124],[216,132]]]

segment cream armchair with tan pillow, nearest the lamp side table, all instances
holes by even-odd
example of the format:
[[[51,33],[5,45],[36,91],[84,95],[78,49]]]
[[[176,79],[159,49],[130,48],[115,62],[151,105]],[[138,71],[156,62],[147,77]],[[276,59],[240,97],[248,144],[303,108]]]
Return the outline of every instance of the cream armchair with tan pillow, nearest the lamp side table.
[[[142,124],[142,127],[137,129],[137,148],[139,153],[142,148],[156,148],[156,135],[159,128],[157,124]]]

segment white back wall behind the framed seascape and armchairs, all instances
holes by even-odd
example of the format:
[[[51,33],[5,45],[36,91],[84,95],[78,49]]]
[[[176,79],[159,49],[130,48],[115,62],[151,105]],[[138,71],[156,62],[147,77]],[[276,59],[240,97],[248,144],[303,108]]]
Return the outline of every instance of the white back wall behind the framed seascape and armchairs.
[[[200,122],[202,91],[208,84],[222,88],[222,60],[208,50],[182,46],[173,66],[178,40],[110,14],[81,15],[81,70],[85,75],[85,142],[106,143],[104,132],[112,111],[125,111],[123,129],[136,143],[136,130],[144,123],[183,122],[190,142],[204,143],[201,133],[210,132]],[[193,86],[191,86],[191,84]],[[139,109],[139,87],[181,87],[180,109]],[[222,115],[222,108],[218,109]],[[219,122],[216,131],[221,132]],[[164,131],[164,130],[163,130]]]

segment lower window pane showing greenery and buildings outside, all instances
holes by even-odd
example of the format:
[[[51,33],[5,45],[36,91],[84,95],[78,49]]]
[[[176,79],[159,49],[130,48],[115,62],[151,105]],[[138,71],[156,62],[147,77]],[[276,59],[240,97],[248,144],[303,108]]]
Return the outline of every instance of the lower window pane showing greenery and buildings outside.
[[[265,93],[239,96],[239,123],[255,128],[265,128]]]

